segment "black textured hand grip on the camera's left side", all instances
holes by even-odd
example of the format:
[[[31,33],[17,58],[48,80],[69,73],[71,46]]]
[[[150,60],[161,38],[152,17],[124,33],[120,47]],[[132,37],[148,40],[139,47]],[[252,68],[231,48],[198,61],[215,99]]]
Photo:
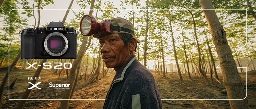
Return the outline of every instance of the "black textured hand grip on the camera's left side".
[[[26,34],[26,32],[24,33]],[[20,38],[20,52],[21,52],[21,57],[22,59],[33,59],[34,58],[34,53],[35,53],[35,36],[34,35],[24,35],[21,34]]]

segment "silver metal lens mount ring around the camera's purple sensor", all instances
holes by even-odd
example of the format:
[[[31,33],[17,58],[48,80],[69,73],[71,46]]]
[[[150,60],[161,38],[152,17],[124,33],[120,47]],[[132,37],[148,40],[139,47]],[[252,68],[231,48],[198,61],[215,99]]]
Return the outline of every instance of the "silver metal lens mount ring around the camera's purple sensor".
[[[64,45],[64,48],[63,49],[61,49],[60,51],[58,51],[58,52],[56,52],[56,53],[53,53],[54,51],[52,51],[51,49],[51,47],[52,47],[52,45],[50,45],[49,46],[49,44],[48,44],[48,40],[49,41],[51,41],[51,43],[52,43],[52,41],[57,41],[57,40],[50,40],[50,39],[52,39],[53,37],[60,37],[61,39],[64,39],[64,42],[63,42],[63,45]],[[60,46],[61,46],[61,48],[62,48],[62,42],[61,41],[59,41],[60,43]],[[61,55],[63,55],[66,51],[67,51],[67,49],[68,49],[68,39],[67,39],[67,37],[65,37],[65,35],[63,35],[62,33],[59,33],[59,32],[53,32],[53,33],[50,33],[48,36],[46,36],[46,38],[45,38],[45,40],[44,40],[44,48],[45,48],[45,51],[49,54],[49,55],[51,55],[51,56],[54,56],[54,57],[58,57],[58,56],[61,56]],[[53,47],[53,48],[56,48],[56,46],[57,45],[55,45],[55,47]],[[49,48],[50,47],[50,48]],[[58,48],[58,47],[57,47]]]

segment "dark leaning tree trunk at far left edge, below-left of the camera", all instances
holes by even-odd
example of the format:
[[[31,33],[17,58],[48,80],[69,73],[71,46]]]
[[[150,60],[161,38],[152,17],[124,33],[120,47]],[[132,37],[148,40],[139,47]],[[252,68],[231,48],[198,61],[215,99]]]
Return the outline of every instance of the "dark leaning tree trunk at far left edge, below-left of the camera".
[[[19,59],[20,59],[20,52],[19,52],[19,54],[17,55],[17,57],[15,58],[15,60],[12,62],[12,65],[9,67],[9,71],[5,74],[5,76],[4,76],[4,78],[3,78],[3,82],[2,82],[2,84],[1,84],[1,86],[0,86],[0,95],[1,95],[1,97],[0,97],[0,107],[1,107],[2,104],[3,104],[4,90],[5,90],[5,85],[6,85],[6,83],[7,83],[7,78],[8,78],[8,76],[9,76],[9,72],[10,72],[10,74],[12,73],[12,70],[14,69],[14,66],[17,64],[17,62],[19,61]]]

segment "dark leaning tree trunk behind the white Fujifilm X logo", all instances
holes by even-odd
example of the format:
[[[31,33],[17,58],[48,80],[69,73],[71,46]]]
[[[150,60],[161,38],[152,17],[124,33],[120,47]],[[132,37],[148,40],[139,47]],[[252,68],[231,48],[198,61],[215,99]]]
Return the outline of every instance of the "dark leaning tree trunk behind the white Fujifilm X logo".
[[[47,61],[47,59],[43,59],[40,65],[43,65],[43,63],[46,62],[46,61]],[[33,77],[39,77],[39,75],[40,75],[40,73],[41,73],[43,67],[44,67],[44,66],[38,66],[37,71],[35,72],[35,74],[34,74]],[[35,84],[36,81],[37,81],[37,80],[31,80],[31,83],[32,83],[32,84]],[[28,98],[29,98],[31,91],[33,90],[33,89],[29,89],[29,88],[32,87],[32,84],[29,84],[29,86],[27,87],[27,89],[26,89],[26,91],[25,91],[25,93],[23,94],[23,96],[22,96],[21,99],[28,99]],[[24,107],[25,104],[26,104],[26,101],[27,101],[27,100],[20,100],[18,106],[16,107],[16,109],[23,109],[23,107]]]

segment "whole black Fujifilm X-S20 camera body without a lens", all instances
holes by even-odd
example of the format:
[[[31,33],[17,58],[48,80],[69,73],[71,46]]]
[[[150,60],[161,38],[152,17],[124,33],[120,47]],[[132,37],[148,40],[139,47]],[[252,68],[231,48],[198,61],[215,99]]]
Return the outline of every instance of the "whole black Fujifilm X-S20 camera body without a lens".
[[[22,59],[76,58],[76,36],[74,27],[61,22],[50,22],[47,27],[25,28],[20,33]]]

